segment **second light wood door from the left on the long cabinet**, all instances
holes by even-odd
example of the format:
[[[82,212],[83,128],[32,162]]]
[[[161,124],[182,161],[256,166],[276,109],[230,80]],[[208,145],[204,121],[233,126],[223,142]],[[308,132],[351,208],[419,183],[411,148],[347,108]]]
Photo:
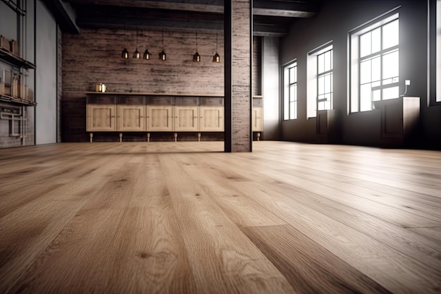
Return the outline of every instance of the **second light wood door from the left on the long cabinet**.
[[[144,105],[118,105],[118,130],[143,131],[145,126]]]

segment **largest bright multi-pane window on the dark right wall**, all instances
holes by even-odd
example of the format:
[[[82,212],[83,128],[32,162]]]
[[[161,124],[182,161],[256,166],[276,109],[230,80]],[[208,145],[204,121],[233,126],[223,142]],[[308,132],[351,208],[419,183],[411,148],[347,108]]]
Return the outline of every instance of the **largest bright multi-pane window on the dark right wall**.
[[[398,14],[350,33],[350,112],[399,97]]]

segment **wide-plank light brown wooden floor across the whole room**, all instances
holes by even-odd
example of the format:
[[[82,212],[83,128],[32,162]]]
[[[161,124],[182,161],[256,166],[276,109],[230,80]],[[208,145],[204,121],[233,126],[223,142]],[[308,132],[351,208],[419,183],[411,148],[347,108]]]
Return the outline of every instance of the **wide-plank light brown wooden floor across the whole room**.
[[[441,152],[0,149],[0,293],[441,293]]]

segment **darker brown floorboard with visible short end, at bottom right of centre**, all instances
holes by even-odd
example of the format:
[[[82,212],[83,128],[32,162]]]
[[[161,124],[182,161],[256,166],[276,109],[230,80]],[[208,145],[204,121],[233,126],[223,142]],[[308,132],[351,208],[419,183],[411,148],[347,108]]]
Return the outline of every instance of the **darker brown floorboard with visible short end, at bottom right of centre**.
[[[242,231],[299,293],[390,293],[292,226]]]

